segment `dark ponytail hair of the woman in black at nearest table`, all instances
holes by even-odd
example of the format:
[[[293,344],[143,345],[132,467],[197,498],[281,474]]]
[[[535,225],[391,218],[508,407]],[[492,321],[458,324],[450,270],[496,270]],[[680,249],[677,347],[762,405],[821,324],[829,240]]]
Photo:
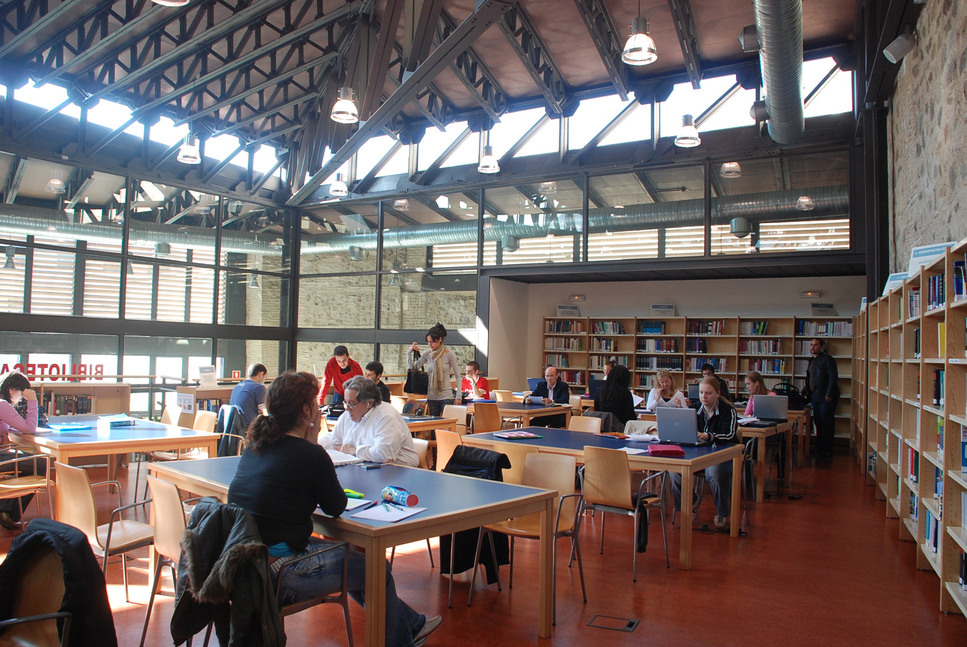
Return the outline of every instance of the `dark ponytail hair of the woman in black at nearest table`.
[[[319,380],[312,373],[286,370],[274,379],[265,396],[269,415],[256,416],[246,434],[251,451],[258,454],[278,443],[302,420],[303,405],[318,406],[318,397]]]

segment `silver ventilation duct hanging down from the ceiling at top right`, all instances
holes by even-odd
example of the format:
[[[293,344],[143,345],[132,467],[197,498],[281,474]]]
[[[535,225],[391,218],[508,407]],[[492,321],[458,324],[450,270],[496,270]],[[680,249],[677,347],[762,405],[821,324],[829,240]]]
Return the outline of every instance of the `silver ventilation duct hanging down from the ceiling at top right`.
[[[803,0],[752,0],[769,136],[791,144],[806,130],[803,112]]]

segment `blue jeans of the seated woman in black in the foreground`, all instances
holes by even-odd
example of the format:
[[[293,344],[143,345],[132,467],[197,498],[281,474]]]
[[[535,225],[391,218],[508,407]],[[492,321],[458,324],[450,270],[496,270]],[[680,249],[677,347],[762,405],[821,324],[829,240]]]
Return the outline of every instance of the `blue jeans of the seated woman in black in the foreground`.
[[[314,537],[309,538],[306,552],[333,544]],[[316,555],[285,571],[280,588],[284,604],[297,603],[318,596],[336,593],[342,579],[343,549],[337,548]],[[274,582],[275,583],[275,582]],[[366,606],[366,555],[350,546],[349,572],[347,573],[349,595],[360,606]],[[414,611],[409,604],[396,597],[396,582],[390,564],[386,565],[386,645],[387,647],[412,647],[413,636],[423,629],[426,616]]]

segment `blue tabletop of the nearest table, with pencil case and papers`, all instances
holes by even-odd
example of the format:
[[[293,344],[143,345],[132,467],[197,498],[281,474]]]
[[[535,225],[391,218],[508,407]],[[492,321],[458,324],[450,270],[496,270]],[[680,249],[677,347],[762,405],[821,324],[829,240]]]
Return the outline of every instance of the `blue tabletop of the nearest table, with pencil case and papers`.
[[[166,463],[166,469],[174,469],[195,477],[225,485],[227,489],[235,477],[241,456],[208,458],[204,460],[179,460],[177,465]],[[378,498],[387,485],[399,485],[420,497],[419,508],[427,510],[411,519],[425,519],[428,516],[449,515],[469,508],[493,505],[519,497],[531,496],[542,490],[523,485],[510,485],[494,481],[482,481],[468,477],[441,474],[430,470],[383,465],[379,469],[362,469],[359,465],[343,465],[336,468],[339,483],[343,487],[363,492],[366,499]],[[163,475],[161,475],[163,479]],[[343,516],[348,517],[351,512]],[[399,525],[385,521],[353,518],[353,521],[374,527]]]

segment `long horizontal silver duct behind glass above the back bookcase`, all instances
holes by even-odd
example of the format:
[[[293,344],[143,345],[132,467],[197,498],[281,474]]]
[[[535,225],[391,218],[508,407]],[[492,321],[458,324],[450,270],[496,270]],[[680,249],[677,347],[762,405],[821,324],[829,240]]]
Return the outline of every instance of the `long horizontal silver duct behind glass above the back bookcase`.
[[[796,200],[808,194],[816,207],[804,212],[796,209]],[[484,241],[506,241],[512,246],[521,238],[543,238],[548,234],[571,235],[581,229],[580,219],[570,214],[532,214],[507,216],[508,220],[486,219]],[[846,185],[811,187],[793,191],[746,193],[712,198],[712,223],[729,224],[733,219],[749,222],[819,221],[849,218],[849,191]],[[530,221],[530,222],[525,222]],[[588,228],[592,234],[608,231],[637,231],[670,227],[693,227],[705,223],[705,200],[677,200],[652,204],[625,205],[622,209],[602,207],[588,212]],[[477,241],[477,221],[433,222],[396,227],[384,231],[383,248],[401,249],[454,245]],[[376,233],[320,234],[303,240],[301,253],[332,253],[376,249]]]

